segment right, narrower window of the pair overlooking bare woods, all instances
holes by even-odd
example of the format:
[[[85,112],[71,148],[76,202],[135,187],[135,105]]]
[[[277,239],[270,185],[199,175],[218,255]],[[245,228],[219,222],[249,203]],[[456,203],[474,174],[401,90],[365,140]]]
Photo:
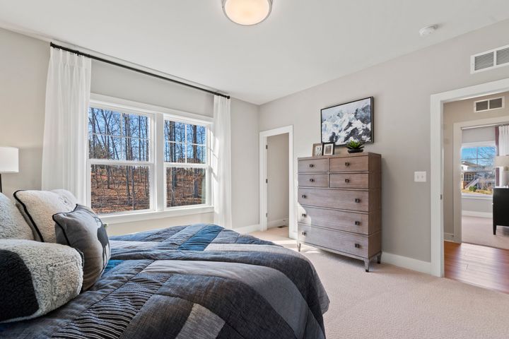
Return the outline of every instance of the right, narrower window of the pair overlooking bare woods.
[[[178,121],[164,122],[166,207],[206,203],[206,126]]]

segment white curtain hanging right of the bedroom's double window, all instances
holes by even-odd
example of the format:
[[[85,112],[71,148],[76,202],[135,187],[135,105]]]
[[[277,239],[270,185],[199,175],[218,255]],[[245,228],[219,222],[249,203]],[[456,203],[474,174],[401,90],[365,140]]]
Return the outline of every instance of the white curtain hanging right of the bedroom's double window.
[[[214,97],[211,165],[214,223],[232,228],[230,100],[218,95]]]

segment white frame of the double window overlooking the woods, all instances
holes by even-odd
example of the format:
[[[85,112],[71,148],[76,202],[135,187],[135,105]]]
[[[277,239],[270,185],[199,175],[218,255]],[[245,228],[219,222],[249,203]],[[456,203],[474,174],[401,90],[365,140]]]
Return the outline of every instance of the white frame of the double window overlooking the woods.
[[[108,213],[101,215],[103,222],[108,224],[117,224],[122,222],[136,222],[143,220],[152,220],[159,218],[176,217],[181,215],[194,215],[201,213],[213,213],[213,201],[211,194],[211,126],[213,119],[201,114],[194,114],[190,112],[179,111],[177,109],[168,109],[165,107],[158,107],[148,105],[141,102],[134,102],[131,100],[119,99],[117,97],[110,97],[106,95],[99,95],[95,93],[90,94],[89,107],[113,109],[117,112],[131,113],[144,115],[151,118],[151,129],[149,138],[149,161],[137,162],[129,160],[90,160],[87,157],[87,201],[88,206],[91,205],[91,165],[128,165],[128,166],[149,166],[151,169],[150,178],[150,208],[148,210],[129,210],[118,213]],[[164,121],[172,120],[185,124],[196,124],[205,126],[207,129],[206,137],[206,164],[186,164],[177,163],[172,164],[164,162]],[[87,133],[88,141],[88,133]],[[191,206],[176,206],[166,208],[166,179],[165,168],[168,165],[172,167],[203,167],[206,168],[206,203]],[[173,166],[175,165],[175,166]]]

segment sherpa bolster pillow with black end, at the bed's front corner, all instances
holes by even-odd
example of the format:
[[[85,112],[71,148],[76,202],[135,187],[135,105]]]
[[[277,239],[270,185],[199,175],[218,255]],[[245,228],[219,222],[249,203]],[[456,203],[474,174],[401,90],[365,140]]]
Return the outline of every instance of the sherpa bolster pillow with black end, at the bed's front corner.
[[[69,246],[0,239],[0,322],[36,318],[76,297],[82,263]]]

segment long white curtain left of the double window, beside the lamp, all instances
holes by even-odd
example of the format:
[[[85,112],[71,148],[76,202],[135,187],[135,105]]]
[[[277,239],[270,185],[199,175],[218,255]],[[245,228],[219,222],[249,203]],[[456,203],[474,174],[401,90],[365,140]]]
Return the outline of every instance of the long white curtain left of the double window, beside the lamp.
[[[42,145],[42,189],[66,189],[86,203],[90,59],[50,48]]]

